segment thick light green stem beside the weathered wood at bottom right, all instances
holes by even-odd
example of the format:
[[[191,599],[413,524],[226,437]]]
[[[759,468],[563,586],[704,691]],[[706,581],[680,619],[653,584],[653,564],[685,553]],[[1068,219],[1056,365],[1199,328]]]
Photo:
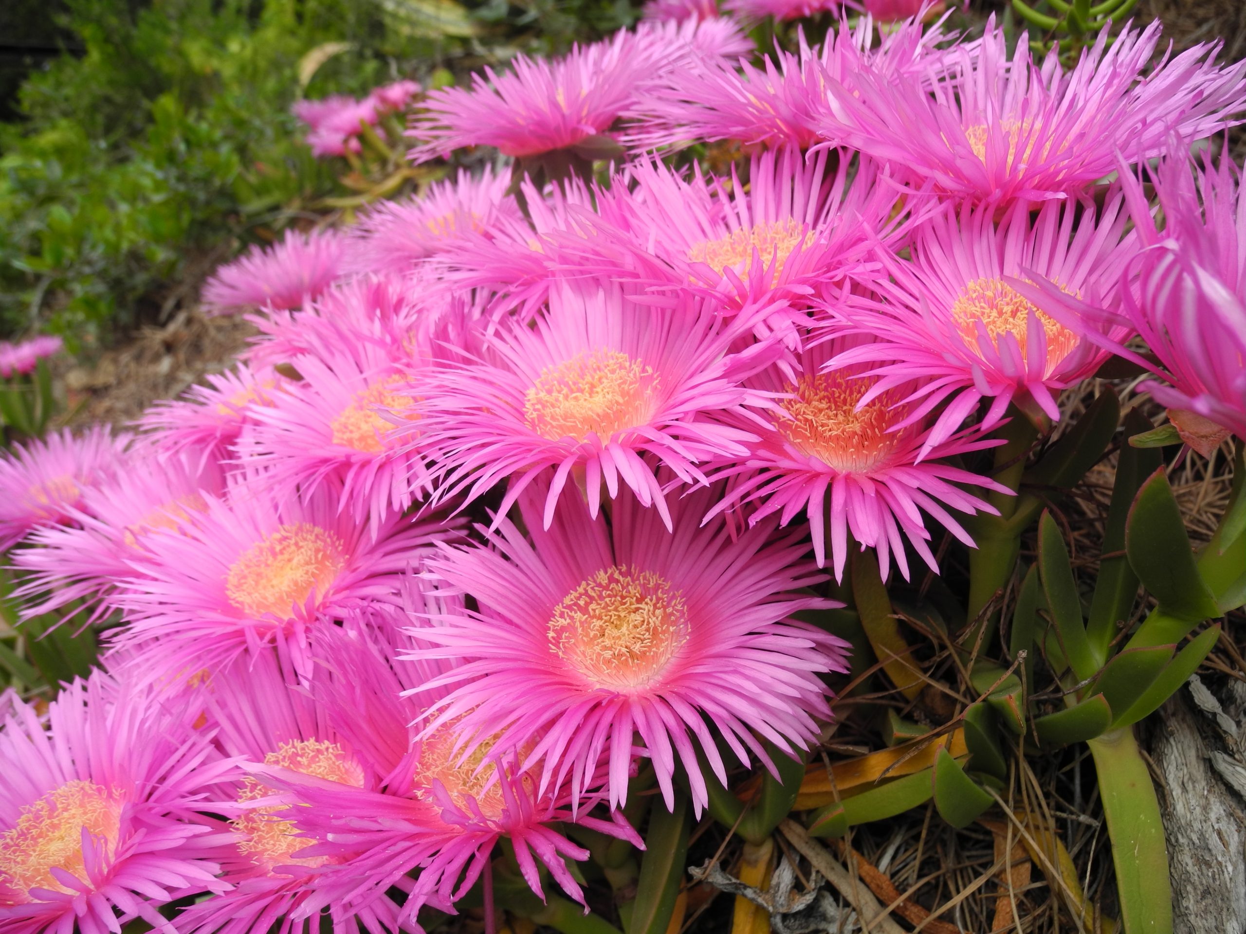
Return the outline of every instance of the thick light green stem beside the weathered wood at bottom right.
[[[1130,727],[1111,730],[1090,740],[1089,746],[1111,837],[1125,934],[1170,934],[1172,887],[1164,822],[1134,732]]]

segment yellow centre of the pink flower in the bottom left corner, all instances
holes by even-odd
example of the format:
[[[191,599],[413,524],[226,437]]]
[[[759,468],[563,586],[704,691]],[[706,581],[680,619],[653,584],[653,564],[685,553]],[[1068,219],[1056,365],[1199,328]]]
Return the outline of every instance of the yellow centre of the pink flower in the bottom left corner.
[[[121,808],[107,788],[92,782],[66,782],[47,792],[22,808],[17,823],[0,834],[0,880],[19,897],[26,893],[26,902],[37,900],[30,894],[34,888],[76,894],[51,870],[64,869],[86,879],[82,831],[111,854],[121,834]]]

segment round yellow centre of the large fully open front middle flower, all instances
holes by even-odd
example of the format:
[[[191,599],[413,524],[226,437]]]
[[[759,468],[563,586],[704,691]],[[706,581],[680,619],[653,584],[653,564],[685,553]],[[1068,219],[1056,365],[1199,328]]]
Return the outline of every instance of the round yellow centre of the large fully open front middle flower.
[[[688,641],[683,594],[637,568],[598,570],[563,598],[549,620],[549,649],[593,687],[643,689],[662,677]]]

